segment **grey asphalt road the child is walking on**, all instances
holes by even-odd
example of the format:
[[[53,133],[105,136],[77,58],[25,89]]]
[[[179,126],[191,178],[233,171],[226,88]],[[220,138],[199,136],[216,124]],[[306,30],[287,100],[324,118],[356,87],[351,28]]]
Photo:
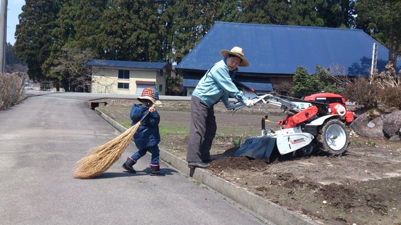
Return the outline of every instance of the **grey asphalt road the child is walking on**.
[[[267,224],[214,190],[162,165],[151,177],[150,156],[136,175],[121,159],[95,179],[74,179],[75,162],[120,133],[85,104],[118,97],[31,92],[0,111],[0,224]],[[120,96],[135,97],[135,96]]]

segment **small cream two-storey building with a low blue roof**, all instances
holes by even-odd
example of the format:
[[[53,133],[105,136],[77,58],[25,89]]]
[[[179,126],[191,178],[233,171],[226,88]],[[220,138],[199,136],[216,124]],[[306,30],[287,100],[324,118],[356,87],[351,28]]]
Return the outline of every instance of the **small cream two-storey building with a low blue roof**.
[[[142,61],[116,61],[93,59],[86,63],[92,66],[93,93],[141,95],[144,88],[156,88],[165,95],[168,63]]]

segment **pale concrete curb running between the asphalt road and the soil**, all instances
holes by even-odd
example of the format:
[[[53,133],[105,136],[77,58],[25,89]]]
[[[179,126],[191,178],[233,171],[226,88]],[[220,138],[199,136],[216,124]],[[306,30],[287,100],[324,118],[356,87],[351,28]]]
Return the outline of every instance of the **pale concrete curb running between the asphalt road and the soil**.
[[[109,116],[105,115],[100,110],[97,110],[97,108],[95,108],[95,112],[121,133],[127,130],[127,128],[121,124],[118,124]],[[274,204],[273,202],[270,202],[259,195],[251,193],[245,188],[235,186],[234,184],[227,182],[225,179],[221,179],[216,175],[208,173],[207,170],[201,168],[190,169],[188,168],[185,160],[180,159],[165,150],[160,149],[160,159],[162,159],[163,162],[173,166],[181,173],[187,174],[189,177],[202,182],[209,188],[216,190],[216,192],[221,193],[221,195],[225,195],[234,202],[248,208],[250,211],[265,219],[268,219],[274,224],[317,225],[317,223],[313,222],[313,220]]]

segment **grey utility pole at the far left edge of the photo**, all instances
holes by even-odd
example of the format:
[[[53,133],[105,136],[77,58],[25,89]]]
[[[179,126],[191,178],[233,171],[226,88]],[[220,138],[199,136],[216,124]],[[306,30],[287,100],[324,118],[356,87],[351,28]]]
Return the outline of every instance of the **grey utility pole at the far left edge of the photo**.
[[[0,73],[6,72],[7,0],[1,0],[0,8]]]

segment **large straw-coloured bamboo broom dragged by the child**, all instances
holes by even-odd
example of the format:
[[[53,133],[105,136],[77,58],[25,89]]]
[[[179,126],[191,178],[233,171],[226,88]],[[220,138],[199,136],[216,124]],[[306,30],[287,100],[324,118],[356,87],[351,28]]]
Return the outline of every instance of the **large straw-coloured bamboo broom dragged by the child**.
[[[151,108],[154,108],[154,104]],[[104,171],[108,170],[111,165],[113,165],[124,153],[124,150],[127,149],[127,146],[132,140],[133,135],[135,135],[136,130],[140,124],[144,121],[144,119],[149,115],[149,111],[136,123],[134,126],[131,126],[128,130],[125,130],[124,133],[115,137],[111,141],[103,144],[102,146],[98,146],[91,150],[86,157],[80,159],[75,163],[75,170],[73,173],[73,177],[80,179],[91,179],[93,177],[97,177],[98,175],[104,173]]]

